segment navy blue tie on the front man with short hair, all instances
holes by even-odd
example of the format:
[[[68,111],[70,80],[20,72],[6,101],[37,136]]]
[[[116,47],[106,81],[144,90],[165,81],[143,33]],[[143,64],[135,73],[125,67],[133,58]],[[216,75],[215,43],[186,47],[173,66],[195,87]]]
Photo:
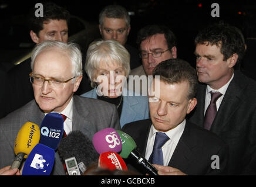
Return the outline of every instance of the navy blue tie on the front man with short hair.
[[[164,165],[163,151],[161,147],[168,141],[170,138],[166,133],[157,132],[156,138],[154,140],[153,151],[149,157],[151,164]]]

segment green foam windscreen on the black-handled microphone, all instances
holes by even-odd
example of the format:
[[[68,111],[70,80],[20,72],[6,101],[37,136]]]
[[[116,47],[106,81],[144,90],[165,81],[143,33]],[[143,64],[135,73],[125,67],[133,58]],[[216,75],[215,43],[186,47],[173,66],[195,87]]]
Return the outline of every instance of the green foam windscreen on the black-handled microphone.
[[[119,153],[119,155],[122,158],[127,158],[130,153],[137,147],[137,145],[133,138],[129,136],[129,134],[126,134],[121,130],[117,130],[117,133],[122,140],[122,151]]]

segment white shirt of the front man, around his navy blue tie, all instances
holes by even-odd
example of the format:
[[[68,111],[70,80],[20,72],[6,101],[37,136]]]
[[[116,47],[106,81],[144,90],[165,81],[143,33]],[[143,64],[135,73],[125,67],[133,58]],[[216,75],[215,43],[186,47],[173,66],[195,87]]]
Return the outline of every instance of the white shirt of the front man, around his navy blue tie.
[[[170,140],[166,141],[166,143],[162,147],[164,165],[169,164],[171,160],[171,156],[173,155],[173,152],[178,144],[178,141],[180,140],[181,134],[184,131],[185,124],[186,124],[186,119],[184,119],[183,122],[178,124],[178,126],[175,127],[174,129],[164,132],[170,138]],[[156,137],[156,133],[157,133],[157,130],[154,128],[152,124],[149,131],[149,138],[147,139],[147,148],[146,148],[146,154],[145,154],[145,158],[147,160],[149,160],[149,157],[153,151],[154,138]]]

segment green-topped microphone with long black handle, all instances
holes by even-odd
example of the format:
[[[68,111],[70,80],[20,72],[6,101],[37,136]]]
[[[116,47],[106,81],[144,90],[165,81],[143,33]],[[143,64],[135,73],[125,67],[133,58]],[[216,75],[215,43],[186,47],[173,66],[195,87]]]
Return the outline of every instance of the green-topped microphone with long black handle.
[[[149,172],[149,174],[151,175],[158,175],[157,174],[157,169],[150,164],[149,161],[146,160],[146,158],[143,157],[142,154],[140,154],[137,150],[136,150],[136,143],[133,140],[132,137],[130,137],[128,134],[124,133],[121,130],[117,130],[117,133],[119,134],[119,136],[122,139],[122,151],[120,153],[120,156],[122,158],[131,158],[133,160],[136,160],[136,162],[140,165],[143,166],[144,169],[146,169],[147,172]]]

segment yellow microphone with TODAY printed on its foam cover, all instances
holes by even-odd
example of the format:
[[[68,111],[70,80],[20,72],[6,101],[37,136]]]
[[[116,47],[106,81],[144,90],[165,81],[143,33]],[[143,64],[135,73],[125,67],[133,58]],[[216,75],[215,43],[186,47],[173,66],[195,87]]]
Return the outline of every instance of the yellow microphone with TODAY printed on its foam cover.
[[[26,122],[16,136],[14,141],[14,153],[16,155],[11,168],[19,168],[23,158],[27,158],[33,147],[39,143],[40,130],[37,124]]]

